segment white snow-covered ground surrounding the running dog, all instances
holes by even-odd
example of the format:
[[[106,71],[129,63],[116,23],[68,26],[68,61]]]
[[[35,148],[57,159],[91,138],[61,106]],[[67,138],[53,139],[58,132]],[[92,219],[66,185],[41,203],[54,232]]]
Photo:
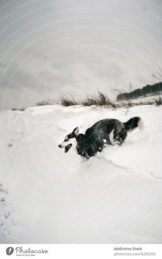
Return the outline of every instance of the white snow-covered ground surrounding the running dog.
[[[162,106],[39,106],[1,113],[2,243],[161,243]],[[103,118],[143,118],[89,160],[58,148]]]

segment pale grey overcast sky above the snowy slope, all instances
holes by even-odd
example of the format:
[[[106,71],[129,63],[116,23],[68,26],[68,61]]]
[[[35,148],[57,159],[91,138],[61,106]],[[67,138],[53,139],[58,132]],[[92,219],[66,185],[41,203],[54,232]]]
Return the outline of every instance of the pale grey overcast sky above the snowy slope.
[[[161,13],[161,0],[1,0],[1,109],[156,83]]]

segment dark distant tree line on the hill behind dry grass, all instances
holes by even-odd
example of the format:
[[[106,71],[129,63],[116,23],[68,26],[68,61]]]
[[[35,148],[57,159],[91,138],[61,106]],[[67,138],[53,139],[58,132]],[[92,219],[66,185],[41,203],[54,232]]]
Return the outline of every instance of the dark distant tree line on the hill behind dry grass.
[[[140,96],[151,95],[155,93],[162,92],[162,82],[154,84],[154,85],[146,85],[143,88],[138,88],[132,92],[121,92],[117,95],[116,100],[121,101],[123,99],[137,99]]]

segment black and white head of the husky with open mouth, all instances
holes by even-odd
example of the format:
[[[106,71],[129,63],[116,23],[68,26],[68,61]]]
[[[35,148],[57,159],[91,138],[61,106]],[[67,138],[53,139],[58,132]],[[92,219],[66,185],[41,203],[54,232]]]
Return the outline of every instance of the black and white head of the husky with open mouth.
[[[75,150],[76,147],[77,147],[77,137],[79,135],[79,129],[78,127],[77,128],[74,128],[74,130],[68,134],[64,141],[58,145],[60,148],[65,148],[64,152],[67,153],[69,151],[69,149],[71,150]]]

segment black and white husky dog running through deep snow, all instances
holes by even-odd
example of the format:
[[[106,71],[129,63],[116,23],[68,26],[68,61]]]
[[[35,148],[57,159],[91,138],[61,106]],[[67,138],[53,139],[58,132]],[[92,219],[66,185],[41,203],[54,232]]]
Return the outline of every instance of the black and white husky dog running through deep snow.
[[[140,117],[134,117],[129,121],[122,123],[116,119],[104,119],[96,122],[91,128],[85,131],[85,134],[79,133],[79,128],[68,134],[64,142],[58,145],[60,148],[65,148],[67,153],[70,149],[75,150],[78,155],[83,158],[95,156],[97,151],[101,152],[105,145],[122,146],[123,141],[127,136],[127,132],[139,128],[143,130],[144,124]]]

